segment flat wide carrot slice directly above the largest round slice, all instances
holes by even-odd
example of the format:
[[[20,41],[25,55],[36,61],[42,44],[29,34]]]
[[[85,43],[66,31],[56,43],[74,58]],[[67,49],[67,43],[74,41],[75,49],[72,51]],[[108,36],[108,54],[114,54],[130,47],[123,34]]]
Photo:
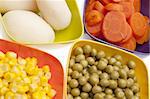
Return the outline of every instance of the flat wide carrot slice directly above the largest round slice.
[[[108,11],[123,11],[123,7],[117,3],[109,3],[105,6],[105,9]]]

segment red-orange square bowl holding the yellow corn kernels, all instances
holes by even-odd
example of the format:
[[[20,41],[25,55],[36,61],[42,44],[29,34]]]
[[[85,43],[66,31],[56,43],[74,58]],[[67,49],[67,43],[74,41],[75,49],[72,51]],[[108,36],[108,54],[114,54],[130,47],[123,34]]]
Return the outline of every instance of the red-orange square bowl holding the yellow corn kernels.
[[[54,99],[63,99],[64,97],[64,72],[61,63],[52,55],[49,55],[40,50],[26,47],[17,43],[9,42],[0,39],[0,51],[6,53],[13,51],[22,58],[35,57],[38,60],[39,68],[44,65],[49,65],[52,74],[49,84],[56,90]]]

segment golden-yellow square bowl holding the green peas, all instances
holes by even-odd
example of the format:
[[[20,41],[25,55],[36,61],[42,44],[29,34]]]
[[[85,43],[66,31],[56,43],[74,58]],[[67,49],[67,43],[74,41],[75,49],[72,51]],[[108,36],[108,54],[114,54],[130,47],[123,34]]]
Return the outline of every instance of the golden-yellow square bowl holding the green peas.
[[[139,57],[127,51],[116,48],[116,47],[112,47],[112,46],[99,43],[99,42],[95,42],[95,41],[91,41],[91,40],[80,40],[80,41],[75,42],[68,56],[67,72],[68,72],[70,57],[71,55],[74,55],[73,53],[74,49],[77,47],[82,47],[86,44],[91,45],[93,48],[97,50],[104,50],[107,56],[112,56],[115,54],[121,55],[123,57],[123,61],[122,61],[123,64],[127,63],[128,60],[135,61],[135,63],[137,64],[135,68],[135,74],[138,80],[138,84],[140,85],[140,99],[149,99],[150,88],[149,88],[149,80],[148,80],[149,78],[148,78],[146,65]],[[67,75],[65,78],[65,84],[66,84],[65,86],[67,86]],[[67,94],[67,89],[66,89],[66,94]]]

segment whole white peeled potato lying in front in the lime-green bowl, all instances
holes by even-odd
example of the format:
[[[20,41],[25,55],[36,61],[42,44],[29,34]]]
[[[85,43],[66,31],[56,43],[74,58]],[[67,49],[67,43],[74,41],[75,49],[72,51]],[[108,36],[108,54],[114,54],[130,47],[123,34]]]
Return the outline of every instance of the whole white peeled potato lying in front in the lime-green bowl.
[[[9,35],[23,43],[47,43],[55,39],[51,26],[30,11],[9,11],[4,14],[3,22]]]

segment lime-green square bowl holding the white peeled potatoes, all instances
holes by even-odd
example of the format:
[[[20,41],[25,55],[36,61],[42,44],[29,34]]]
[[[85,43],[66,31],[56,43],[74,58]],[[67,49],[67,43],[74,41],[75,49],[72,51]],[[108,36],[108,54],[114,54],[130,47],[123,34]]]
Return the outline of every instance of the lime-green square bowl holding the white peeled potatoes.
[[[78,5],[76,0],[66,0],[68,7],[72,13],[72,19],[70,25],[60,31],[55,31],[55,40],[54,42],[47,42],[47,43],[40,43],[40,44],[51,44],[51,43],[69,43],[73,42],[79,38],[82,37],[84,34],[84,26],[81,20],[81,16],[79,13]],[[63,17],[63,15],[62,15]],[[21,42],[15,37],[12,37],[9,32],[7,31],[7,27],[5,26],[3,19],[2,19],[2,14],[0,15],[0,21],[4,27],[5,33],[14,41],[19,42],[19,43],[24,43],[24,44],[33,44],[32,42]],[[35,43],[34,43],[35,44]],[[39,44],[39,43],[38,43]]]

